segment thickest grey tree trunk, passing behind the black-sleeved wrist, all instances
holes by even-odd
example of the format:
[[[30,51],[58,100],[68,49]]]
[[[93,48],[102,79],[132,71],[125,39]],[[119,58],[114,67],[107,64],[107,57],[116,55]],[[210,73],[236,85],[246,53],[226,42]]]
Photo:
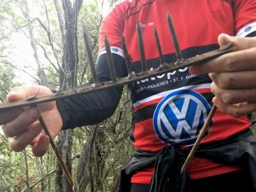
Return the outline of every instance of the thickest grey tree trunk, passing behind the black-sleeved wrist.
[[[74,5],[77,5],[77,7]],[[63,34],[65,34],[65,37],[62,62],[64,74],[60,74],[59,78],[59,88],[61,90],[70,89],[76,86],[76,74],[78,69],[78,52],[76,48],[78,31],[76,25],[78,23],[78,11],[81,8],[82,1],[75,1],[74,5],[72,5],[70,0],[62,0],[65,21],[65,32]],[[59,133],[58,147],[69,172],[72,173],[72,130],[63,130]],[[57,163],[56,167],[56,191],[72,191],[72,186],[69,184],[69,181],[67,180],[59,163]]]

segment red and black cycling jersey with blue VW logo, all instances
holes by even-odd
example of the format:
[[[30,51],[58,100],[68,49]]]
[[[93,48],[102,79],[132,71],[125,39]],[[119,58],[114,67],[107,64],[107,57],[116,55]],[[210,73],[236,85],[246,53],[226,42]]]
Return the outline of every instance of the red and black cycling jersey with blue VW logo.
[[[141,72],[136,34],[136,23],[139,21],[148,70],[160,66],[154,28],[159,34],[164,62],[175,62],[167,13],[172,17],[183,58],[218,49],[217,40],[221,33],[246,36],[256,31],[254,0],[126,0],[114,5],[103,20],[99,34],[99,54],[105,53],[106,35],[112,52],[123,56],[121,37],[124,36],[133,58],[133,71]],[[146,151],[159,151],[166,145],[192,145],[212,105],[210,86],[211,80],[207,74],[192,75],[188,68],[131,84],[134,146]],[[250,125],[247,116],[233,118],[217,110],[209,135],[203,142],[227,139]],[[239,167],[197,158],[189,167],[192,178],[235,169]],[[136,173],[133,182],[150,181],[151,171],[148,168]]]

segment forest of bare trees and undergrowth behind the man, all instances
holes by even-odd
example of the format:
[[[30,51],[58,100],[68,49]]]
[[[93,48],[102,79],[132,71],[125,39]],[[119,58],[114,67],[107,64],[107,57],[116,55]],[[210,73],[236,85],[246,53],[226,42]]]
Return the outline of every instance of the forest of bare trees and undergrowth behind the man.
[[[99,25],[116,0],[0,0],[0,103],[14,86],[66,90],[90,79],[83,28],[93,59]],[[254,117],[254,115],[253,115]],[[62,130],[55,139],[79,191],[115,191],[133,154],[129,93],[100,124]],[[255,118],[254,118],[255,119]],[[0,127],[0,191],[72,191],[53,149],[34,157],[16,153]]]

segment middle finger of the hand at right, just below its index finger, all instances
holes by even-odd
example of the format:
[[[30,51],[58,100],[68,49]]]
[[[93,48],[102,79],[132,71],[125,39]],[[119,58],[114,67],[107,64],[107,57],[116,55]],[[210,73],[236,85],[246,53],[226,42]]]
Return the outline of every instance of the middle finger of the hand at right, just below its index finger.
[[[221,89],[256,88],[256,71],[239,71],[233,73],[210,73],[212,81]]]

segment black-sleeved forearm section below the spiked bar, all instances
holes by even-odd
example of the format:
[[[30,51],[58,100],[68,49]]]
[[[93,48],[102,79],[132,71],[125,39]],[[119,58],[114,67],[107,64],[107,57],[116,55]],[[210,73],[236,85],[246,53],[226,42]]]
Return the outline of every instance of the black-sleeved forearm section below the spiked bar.
[[[58,101],[62,129],[98,124],[105,120],[116,110],[122,90],[123,87],[117,87]]]

